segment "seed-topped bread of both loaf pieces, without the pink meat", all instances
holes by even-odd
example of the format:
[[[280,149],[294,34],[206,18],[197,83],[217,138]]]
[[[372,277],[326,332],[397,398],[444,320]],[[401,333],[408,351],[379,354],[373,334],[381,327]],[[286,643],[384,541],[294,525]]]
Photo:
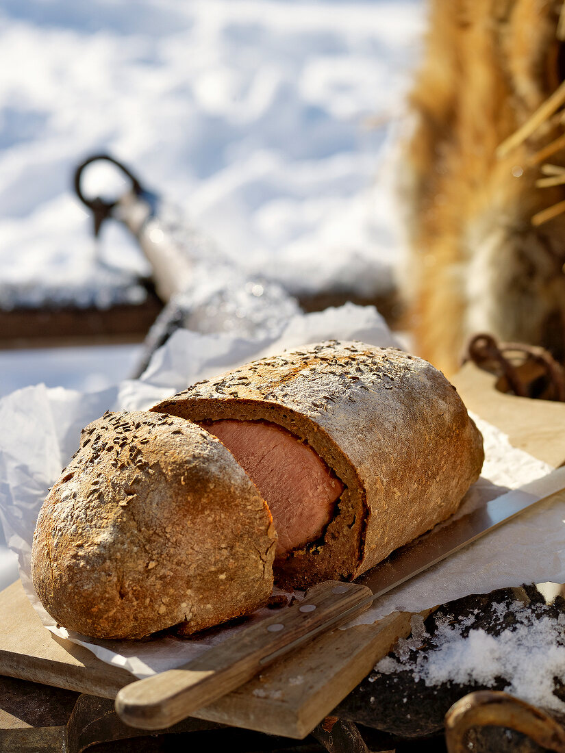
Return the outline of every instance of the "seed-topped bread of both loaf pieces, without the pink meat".
[[[275,559],[267,503],[210,433],[214,421],[223,431],[248,422],[246,437],[261,425],[260,455],[264,437],[279,434],[276,462],[296,443],[302,456],[304,444],[317,454],[312,468],[338,498],[325,498],[321,534],[279,547]],[[362,343],[304,346],[199,383],[151,412],[106,413],[87,426],[41,508],[33,582],[69,630],[141,638],[180,625],[194,633],[267,602],[273,560],[282,586],[355,578],[449,517],[482,462],[481,434],[426,361]],[[271,476],[279,483],[285,474]]]

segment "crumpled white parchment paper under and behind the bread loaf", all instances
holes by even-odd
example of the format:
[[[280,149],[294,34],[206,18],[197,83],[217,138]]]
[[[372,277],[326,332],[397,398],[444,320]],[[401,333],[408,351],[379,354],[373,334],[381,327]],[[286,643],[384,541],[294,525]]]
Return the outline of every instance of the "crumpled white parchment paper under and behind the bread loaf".
[[[157,351],[140,380],[127,380],[103,392],[81,394],[43,385],[27,387],[0,401],[0,520],[8,545],[16,551],[20,578],[44,625],[57,636],[80,643],[107,663],[137,677],[172,669],[233,635],[241,626],[218,627],[191,639],[102,641],[57,627],[33,592],[30,556],[35,520],[47,489],[78,447],[81,428],[105,410],[143,410],[195,381],[224,370],[317,340],[362,340],[395,345],[372,307],[347,304],[296,316],[282,335],[243,340],[228,334],[177,331]],[[465,510],[548,473],[551,468],[511,447],[498,430],[480,422],[487,447],[481,479],[469,491]],[[546,509],[547,508],[547,509]],[[446,562],[382,597],[356,623],[371,623],[390,611],[421,611],[438,603],[530,581],[565,581],[565,502],[522,515],[467,547]],[[261,619],[260,610],[250,620]],[[268,611],[268,614],[273,614]]]

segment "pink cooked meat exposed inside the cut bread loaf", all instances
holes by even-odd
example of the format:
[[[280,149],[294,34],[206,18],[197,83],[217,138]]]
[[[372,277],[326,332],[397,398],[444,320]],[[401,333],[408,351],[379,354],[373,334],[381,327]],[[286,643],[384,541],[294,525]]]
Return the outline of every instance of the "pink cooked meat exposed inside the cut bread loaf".
[[[267,421],[222,419],[203,428],[231,450],[269,505],[277,557],[322,535],[345,487],[308,444]]]

